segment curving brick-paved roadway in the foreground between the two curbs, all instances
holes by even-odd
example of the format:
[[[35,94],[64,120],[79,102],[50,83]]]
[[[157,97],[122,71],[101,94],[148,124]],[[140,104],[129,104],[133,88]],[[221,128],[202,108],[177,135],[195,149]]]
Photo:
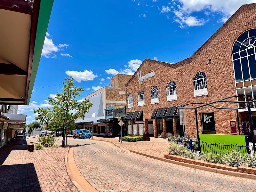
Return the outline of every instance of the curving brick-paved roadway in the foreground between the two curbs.
[[[179,166],[113,147],[95,140],[78,151],[114,148],[123,153],[74,156],[84,178],[99,191],[255,191],[256,180]]]

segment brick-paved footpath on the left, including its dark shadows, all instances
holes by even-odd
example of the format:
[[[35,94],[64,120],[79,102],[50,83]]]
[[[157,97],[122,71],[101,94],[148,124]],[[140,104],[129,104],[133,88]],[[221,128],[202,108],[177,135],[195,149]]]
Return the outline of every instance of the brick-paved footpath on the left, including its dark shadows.
[[[65,167],[68,148],[28,152],[26,140],[18,139],[21,137],[0,148],[0,191],[78,191]]]

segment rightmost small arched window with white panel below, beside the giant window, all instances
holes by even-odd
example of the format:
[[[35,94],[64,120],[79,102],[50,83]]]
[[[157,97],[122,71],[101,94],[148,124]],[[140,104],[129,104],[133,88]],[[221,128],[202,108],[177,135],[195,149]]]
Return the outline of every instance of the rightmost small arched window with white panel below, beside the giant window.
[[[207,80],[204,72],[198,72],[194,76],[194,97],[207,95]]]

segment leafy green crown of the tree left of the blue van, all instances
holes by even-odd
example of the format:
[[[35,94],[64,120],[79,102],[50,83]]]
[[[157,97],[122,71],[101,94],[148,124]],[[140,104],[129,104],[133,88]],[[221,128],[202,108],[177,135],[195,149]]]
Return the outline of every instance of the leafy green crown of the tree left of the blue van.
[[[65,128],[71,131],[76,128],[75,121],[83,118],[92,107],[92,102],[88,99],[78,104],[76,98],[83,92],[82,87],[74,86],[74,79],[70,76],[65,78],[64,86],[61,92],[57,92],[56,98],[48,97],[51,107],[34,109],[34,113],[38,113],[36,120],[46,124],[46,128],[50,131],[57,131],[63,128],[63,117],[65,120]],[[64,130],[63,130],[64,131]]]

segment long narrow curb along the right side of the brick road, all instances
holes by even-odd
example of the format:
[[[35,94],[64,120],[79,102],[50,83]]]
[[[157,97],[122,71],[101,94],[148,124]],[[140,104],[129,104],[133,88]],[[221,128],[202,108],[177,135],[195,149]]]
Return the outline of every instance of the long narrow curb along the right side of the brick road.
[[[107,141],[107,140],[98,140],[98,141],[106,141],[106,142],[113,143],[113,142]],[[121,146],[119,146],[115,143],[113,143],[113,144],[116,147],[122,148]],[[220,174],[225,174],[225,175],[234,176],[234,177],[241,177],[241,178],[245,178],[245,179],[256,180],[256,175],[252,175],[252,174],[233,172],[233,171],[227,171],[227,170],[223,170],[223,169],[216,169],[216,168],[205,167],[205,166],[200,166],[200,165],[196,165],[196,164],[189,164],[189,163],[184,163],[184,162],[180,162],[180,161],[174,161],[174,160],[171,160],[171,159],[165,159],[165,158],[162,158],[162,157],[148,155],[148,154],[141,153],[141,152],[138,152],[138,151],[133,151],[133,150],[128,150],[128,151],[130,151],[132,153],[136,153],[138,155],[146,156],[146,157],[149,157],[149,158],[153,158],[153,159],[157,159],[157,160],[160,160],[160,161],[164,161],[164,162],[168,162],[168,163],[172,163],[172,164],[177,164],[177,165],[181,165],[181,166],[185,166],[185,167],[190,167],[190,168],[194,168],[194,169],[199,169],[199,170],[209,171],[209,172],[215,172],[215,173],[220,173]]]

